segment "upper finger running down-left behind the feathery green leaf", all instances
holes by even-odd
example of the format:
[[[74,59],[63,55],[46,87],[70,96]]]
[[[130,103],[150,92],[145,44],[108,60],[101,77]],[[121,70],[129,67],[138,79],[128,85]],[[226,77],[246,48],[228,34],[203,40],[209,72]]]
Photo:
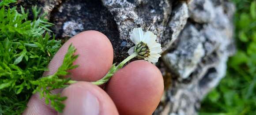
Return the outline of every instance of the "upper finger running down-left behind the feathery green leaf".
[[[113,48],[108,38],[97,31],[85,31],[69,39],[56,53],[49,63],[49,71],[45,75],[54,74],[63,62],[68,46],[72,43],[77,51],[78,59],[74,64],[78,68],[70,70],[72,79],[79,81],[95,81],[102,78],[113,63]],[[33,95],[23,115],[54,115],[54,110],[45,105],[38,95]],[[44,114],[42,114],[44,113]]]

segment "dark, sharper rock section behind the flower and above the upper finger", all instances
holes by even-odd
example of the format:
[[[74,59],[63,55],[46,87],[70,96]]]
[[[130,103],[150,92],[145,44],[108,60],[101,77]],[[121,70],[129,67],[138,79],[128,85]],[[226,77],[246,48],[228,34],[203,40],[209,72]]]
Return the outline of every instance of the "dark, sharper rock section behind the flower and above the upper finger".
[[[53,30],[57,38],[69,38],[84,30],[104,33],[112,42],[114,61],[120,62],[134,45],[129,36],[136,27],[154,32],[163,52],[166,51],[177,40],[188,19],[187,4],[178,6],[171,18],[172,1],[169,0],[65,0],[53,10],[50,19],[56,24]],[[67,22],[82,26],[64,28]]]

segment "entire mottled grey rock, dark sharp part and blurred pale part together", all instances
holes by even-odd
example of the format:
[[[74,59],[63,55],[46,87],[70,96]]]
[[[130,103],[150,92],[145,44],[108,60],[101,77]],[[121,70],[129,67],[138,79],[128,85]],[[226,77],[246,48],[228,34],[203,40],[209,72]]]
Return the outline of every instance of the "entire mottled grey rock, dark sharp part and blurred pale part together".
[[[112,42],[114,62],[128,56],[129,34],[141,27],[157,35],[165,93],[154,115],[195,115],[203,97],[225,76],[234,51],[228,0],[19,0],[49,12],[58,39],[98,30]]]

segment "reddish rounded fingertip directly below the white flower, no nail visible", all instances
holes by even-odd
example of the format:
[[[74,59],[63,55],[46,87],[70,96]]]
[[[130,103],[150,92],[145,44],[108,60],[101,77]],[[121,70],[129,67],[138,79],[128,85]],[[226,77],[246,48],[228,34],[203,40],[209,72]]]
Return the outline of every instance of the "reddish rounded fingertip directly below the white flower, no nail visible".
[[[110,79],[105,91],[120,115],[151,115],[163,94],[161,72],[146,61],[129,63]]]

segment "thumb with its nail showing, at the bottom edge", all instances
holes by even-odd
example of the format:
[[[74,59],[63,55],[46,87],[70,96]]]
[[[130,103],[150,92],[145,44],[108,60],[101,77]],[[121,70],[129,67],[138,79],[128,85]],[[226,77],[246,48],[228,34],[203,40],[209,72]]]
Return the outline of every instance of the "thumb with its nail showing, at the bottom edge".
[[[118,115],[113,100],[96,85],[78,82],[64,89],[66,107],[59,115]]]

